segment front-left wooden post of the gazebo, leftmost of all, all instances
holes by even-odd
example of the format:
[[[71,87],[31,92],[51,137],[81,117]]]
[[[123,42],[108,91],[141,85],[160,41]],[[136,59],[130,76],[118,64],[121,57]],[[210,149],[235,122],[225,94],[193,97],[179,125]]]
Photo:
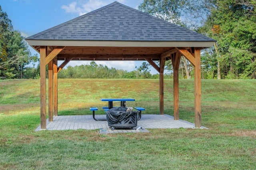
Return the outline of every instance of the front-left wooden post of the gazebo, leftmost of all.
[[[40,48],[40,121],[46,129],[46,47]]]

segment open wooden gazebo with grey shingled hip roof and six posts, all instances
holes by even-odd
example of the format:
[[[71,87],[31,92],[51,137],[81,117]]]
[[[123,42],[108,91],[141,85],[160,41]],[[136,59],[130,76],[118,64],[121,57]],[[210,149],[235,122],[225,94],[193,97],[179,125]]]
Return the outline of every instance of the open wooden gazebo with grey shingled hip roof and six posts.
[[[148,61],[160,74],[160,114],[164,114],[164,66],[174,69],[174,119],[179,119],[178,69],[183,55],[195,70],[195,127],[201,127],[200,50],[215,40],[150,16],[118,2],[32,35],[26,41],[40,53],[40,117],[46,129],[46,66],[48,119],[58,115],[58,72],[71,60]],[[63,61],[60,66],[57,61]],[[159,61],[159,66],[154,63]]]

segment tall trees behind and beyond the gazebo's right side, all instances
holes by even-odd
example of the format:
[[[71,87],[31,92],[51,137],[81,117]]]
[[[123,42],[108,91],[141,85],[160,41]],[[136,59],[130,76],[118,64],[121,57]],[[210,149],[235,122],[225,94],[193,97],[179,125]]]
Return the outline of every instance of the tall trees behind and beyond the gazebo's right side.
[[[255,0],[144,0],[138,8],[217,40],[202,50],[202,78],[256,78]],[[193,77],[184,57],[180,70],[184,77]]]

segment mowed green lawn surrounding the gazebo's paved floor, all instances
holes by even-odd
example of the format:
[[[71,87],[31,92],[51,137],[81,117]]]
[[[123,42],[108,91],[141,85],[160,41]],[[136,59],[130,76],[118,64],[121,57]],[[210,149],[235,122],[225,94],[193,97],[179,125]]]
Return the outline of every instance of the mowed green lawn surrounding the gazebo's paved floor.
[[[180,80],[180,119],[194,123],[194,80]],[[159,80],[58,79],[59,115],[90,115],[100,98],[159,113]],[[48,110],[48,109],[47,109]],[[98,111],[104,114],[104,111]],[[164,80],[173,115],[173,80]],[[143,115],[142,115],[143,116]],[[256,80],[202,80],[202,125],[100,135],[38,131],[40,80],[0,80],[0,169],[256,169]]]

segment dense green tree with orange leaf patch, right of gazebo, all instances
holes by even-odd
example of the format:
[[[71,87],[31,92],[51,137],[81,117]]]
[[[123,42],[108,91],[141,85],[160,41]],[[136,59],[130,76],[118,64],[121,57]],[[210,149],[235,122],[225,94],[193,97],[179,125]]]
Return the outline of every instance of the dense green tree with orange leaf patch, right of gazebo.
[[[238,0],[216,0],[199,29],[218,41],[214,47],[223,78],[256,78],[256,20],[252,8],[248,15],[248,6],[238,4]]]

